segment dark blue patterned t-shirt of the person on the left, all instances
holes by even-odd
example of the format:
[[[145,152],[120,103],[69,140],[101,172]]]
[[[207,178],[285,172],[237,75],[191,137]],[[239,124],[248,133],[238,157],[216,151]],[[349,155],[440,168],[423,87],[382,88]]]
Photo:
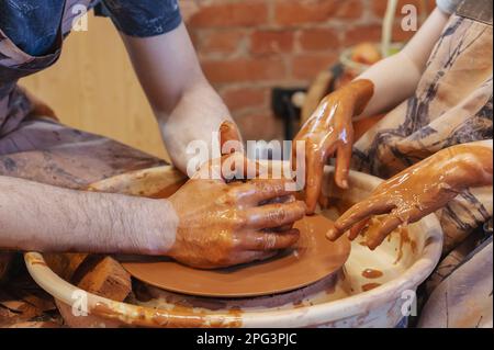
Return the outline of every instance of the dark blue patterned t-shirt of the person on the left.
[[[178,0],[94,0],[90,7],[130,36],[164,34],[182,21]],[[41,56],[56,42],[63,11],[60,0],[0,0],[0,29],[19,48]]]

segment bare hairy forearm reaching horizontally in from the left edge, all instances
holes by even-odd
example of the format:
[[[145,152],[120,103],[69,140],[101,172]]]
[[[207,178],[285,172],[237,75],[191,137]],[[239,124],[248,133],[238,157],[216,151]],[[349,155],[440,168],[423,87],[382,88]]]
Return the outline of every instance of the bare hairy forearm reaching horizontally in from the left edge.
[[[166,201],[59,189],[0,176],[0,246],[161,255],[177,218]]]

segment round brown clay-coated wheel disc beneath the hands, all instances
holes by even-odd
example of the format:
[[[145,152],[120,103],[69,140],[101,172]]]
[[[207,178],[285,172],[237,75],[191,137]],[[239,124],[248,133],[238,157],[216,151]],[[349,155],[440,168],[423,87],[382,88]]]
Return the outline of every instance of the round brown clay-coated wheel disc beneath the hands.
[[[341,237],[325,238],[329,222],[306,216],[294,227],[297,244],[278,256],[250,264],[218,270],[197,270],[171,260],[124,262],[137,280],[162,290],[200,296],[247,297],[277,294],[315,283],[336,272],[350,253],[350,242]]]

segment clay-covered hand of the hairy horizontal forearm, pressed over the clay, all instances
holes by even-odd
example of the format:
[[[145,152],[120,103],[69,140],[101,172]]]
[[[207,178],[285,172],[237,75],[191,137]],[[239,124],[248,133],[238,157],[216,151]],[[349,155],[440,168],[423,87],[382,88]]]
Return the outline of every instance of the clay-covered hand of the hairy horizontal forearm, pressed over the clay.
[[[232,157],[248,162],[238,154],[223,160]],[[292,224],[304,216],[305,204],[287,191],[289,180],[204,179],[211,167],[201,169],[169,199],[178,227],[168,256],[212,269],[266,259],[297,241],[299,230]]]

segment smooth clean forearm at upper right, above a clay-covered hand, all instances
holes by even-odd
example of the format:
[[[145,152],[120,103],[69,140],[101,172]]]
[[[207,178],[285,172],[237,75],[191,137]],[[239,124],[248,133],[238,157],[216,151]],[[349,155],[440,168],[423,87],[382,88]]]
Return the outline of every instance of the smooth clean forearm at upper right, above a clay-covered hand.
[[[385,113],[413,95],[448,19],[436,9],[402,52],[373,65],[357,78],[374,84],[374,94],[359,117]]]

